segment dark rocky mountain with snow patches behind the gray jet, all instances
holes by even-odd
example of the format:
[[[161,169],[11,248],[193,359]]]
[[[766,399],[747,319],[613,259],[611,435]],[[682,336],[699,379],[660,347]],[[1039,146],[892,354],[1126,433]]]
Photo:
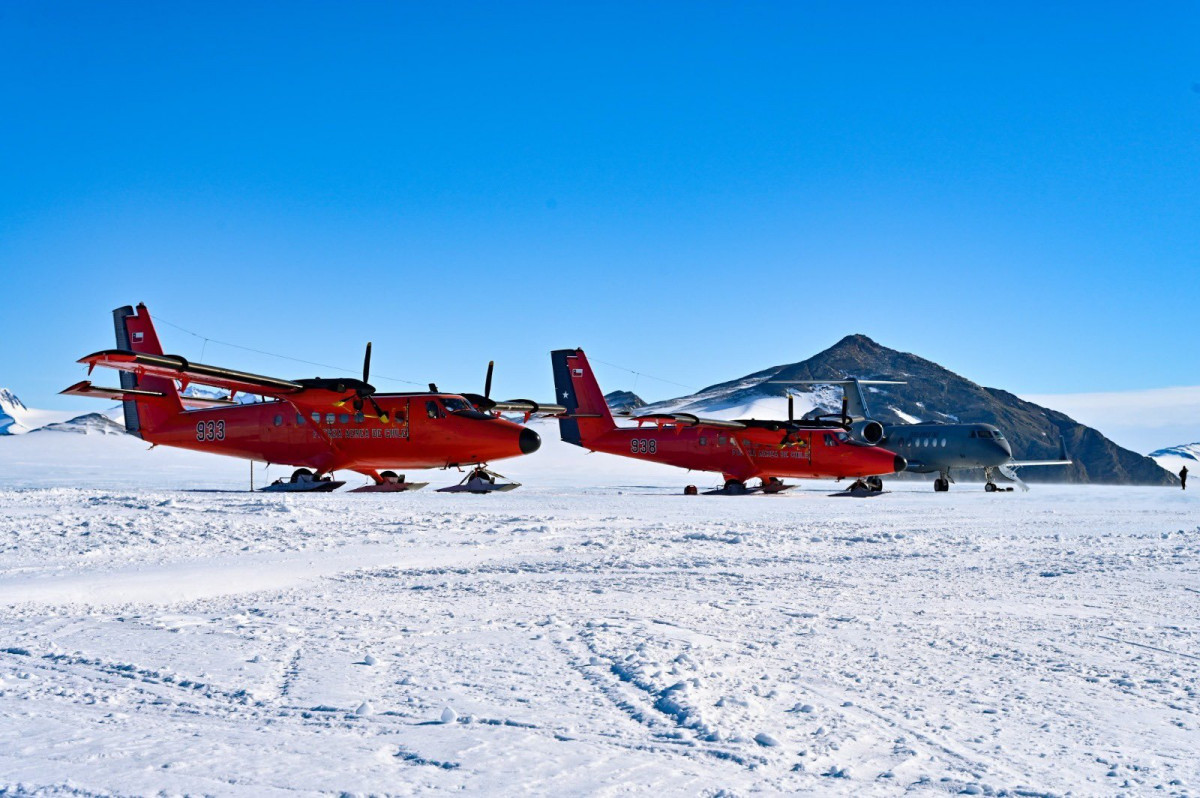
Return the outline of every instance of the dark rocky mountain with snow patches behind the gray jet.
[[[1074,464],[1030,468],[1028,481],[1098,482],[1111,485],[1171,485],[1176,480],[1150,457],[1122,449],[1098,431],[1063,413],[1027,402],[998,388],[984,388],[937,364],[881,346],[865,335],[850,335],[808,360],[772,366],[745,377],[710,385],[690,396],[658,402],[646,412],[682,410],[732,418],[767,410],[784,415],[788,389],[797,394],[797,414],[833,413],[841,389],[782,385],[791,379],[902,379],[905,385],[870,386],[871,414],[887,424],[913,421],[978,421],[995,424],[1008,436],[1018,460],[1055,460],[1060,439]],[[884,444],[886,445],[886,444]]]

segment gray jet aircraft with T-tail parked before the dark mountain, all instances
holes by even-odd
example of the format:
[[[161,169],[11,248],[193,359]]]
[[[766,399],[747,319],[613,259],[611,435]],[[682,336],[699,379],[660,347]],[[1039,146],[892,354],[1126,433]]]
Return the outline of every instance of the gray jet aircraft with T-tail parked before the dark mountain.
[[[776,380],[806,385],[841,385],[842,416],[848,416],[851,434],[869,444],[886,443],[888,449],[908,461],[905,470],[937,474],[935,491],[950,490],[952,470],[982,468],[984,490],[996,491],[996,473],[1030,490],[1016,475],[1018,468],[1032,466],[1069,466],[1066,443],[1060,439],[1062,460],[1013,460],[1013,448],[1004,433],[991,424],[882,424],[871,418],[863,397],[863,385],[904,385],[890,379],[793,379]]]

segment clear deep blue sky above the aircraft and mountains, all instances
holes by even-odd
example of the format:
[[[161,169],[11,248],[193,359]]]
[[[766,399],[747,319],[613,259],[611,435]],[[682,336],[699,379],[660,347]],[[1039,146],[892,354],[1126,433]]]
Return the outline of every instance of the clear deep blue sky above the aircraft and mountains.
[[[850,332],[1198,384],[1200,5],[1045,5],[10,0],[0,385],[62,407],[137,301],[505,396],[552,348],[698,388]]]

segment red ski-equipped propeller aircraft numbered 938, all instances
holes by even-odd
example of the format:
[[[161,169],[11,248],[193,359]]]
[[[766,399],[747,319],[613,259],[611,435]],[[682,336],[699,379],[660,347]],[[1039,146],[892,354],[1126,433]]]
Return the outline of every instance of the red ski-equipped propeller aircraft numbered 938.
[[[880,491],[883,482],[878,475],[904,470],[906,464],[895,452],[854,440],[845,410],[838,421],[797,421],[791,397],[786,421],[719,421],[689,413],[654,413],[630,416],[636,427],[618,427],[583,350],[559,349],[550,356],[556,398],[565,407],[558,421],[563,440],[610,455],[719,472],[725,487],[712,493],[775,493],[788,487],[780,481],[782,476],[866,478],[856,485]],[[762,486],[748,488],[751,479],[761,479]]]

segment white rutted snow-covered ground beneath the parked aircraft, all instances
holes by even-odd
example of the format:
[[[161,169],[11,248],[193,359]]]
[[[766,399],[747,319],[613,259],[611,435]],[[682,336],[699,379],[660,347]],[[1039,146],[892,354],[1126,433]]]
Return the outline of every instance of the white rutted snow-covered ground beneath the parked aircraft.
[[[1200,792],[1193,491],[684,497],[542,433],[485,497],[0,440],[0,794]]]

